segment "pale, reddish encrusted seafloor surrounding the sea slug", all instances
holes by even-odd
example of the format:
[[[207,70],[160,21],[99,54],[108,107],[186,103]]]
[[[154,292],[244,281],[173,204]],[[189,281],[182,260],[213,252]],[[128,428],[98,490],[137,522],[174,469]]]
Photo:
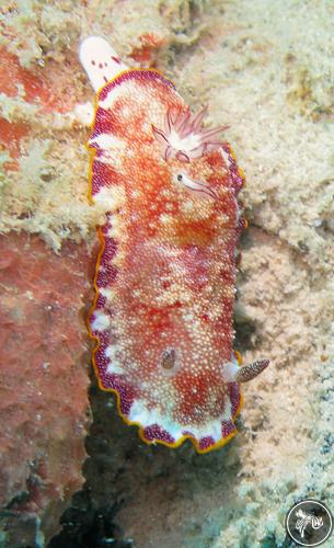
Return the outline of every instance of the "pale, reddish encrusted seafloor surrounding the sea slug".
[[[334,500],[333,1],[16,0],[0,24],[0,546],[289,546],[293,502]],[[246,174],[237,345],[270,367],[208,455],[143,445],[94,381],[88,416],[90,34],[208,103]]]

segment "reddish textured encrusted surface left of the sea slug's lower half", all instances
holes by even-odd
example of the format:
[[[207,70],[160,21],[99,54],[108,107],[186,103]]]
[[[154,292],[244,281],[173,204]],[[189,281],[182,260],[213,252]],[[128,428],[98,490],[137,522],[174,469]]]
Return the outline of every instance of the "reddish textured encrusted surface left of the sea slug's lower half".
[[[0,246],[0,503],[9,546],[30,545],[31,522],[48,538],[82,482],[87,252],[14,233]]]

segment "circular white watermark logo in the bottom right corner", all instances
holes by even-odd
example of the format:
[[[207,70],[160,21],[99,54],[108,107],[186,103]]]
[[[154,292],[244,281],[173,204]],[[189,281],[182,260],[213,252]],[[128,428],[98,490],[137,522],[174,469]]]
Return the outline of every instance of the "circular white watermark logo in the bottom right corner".
[[[333,516],[323,502],[307,499],[287,513],[286,528],[298,546],[320,546],[333,532]]]

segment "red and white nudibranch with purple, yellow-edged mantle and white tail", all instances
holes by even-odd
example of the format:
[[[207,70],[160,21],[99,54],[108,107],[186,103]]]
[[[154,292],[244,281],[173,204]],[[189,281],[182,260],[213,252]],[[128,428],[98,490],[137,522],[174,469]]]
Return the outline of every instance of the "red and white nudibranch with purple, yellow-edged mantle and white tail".
[[[230,145],[205,129],[173,83],[128,69],[91,36],[81,62],[96,92],[91,197],[102,203],[90,333],[102,389],[147,443],[199,453],[237,433],[241,366],[233,352],[235,256],[243,174]]]

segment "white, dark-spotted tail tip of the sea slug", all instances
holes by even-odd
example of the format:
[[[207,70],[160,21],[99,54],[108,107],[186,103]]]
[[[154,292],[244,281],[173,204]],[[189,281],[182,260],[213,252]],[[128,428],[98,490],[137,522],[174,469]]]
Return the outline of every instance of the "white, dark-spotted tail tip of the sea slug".
[[[128,68],[112,46],[99,36],[89,36],[81,43],[79,57],[95,91]]]

